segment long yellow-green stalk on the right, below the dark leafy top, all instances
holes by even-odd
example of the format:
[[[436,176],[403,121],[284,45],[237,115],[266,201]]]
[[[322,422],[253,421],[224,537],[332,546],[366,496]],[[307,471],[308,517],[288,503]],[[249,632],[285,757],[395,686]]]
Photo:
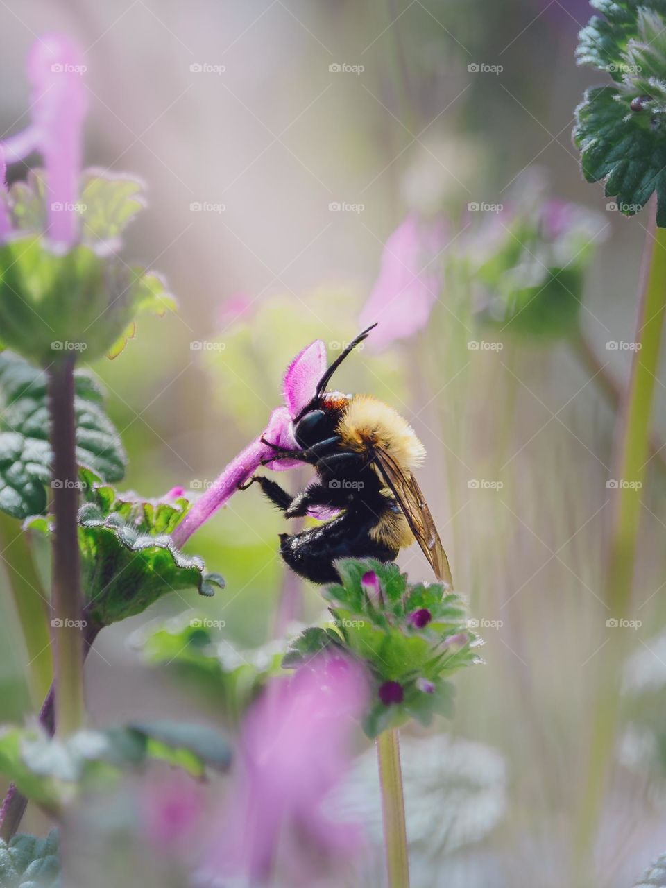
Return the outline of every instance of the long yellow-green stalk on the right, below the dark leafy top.
[[[646,236],[638,325],[628,390],[621,405],[614,452],[613,501],[607,538],[605,597],[607,615],[620,620],[630,607],[642,486],[648,461],[650,414],[659,369],[664,316],[666,315],[666,229],[653,224]],[[626,643],[617,632],[600,656],[600,690],[592,719],[588,769],[583,804],[576,829],[576,868],[579,884],[587,884],[591,849],[597,834],[604,783],[613,755],[620,718],[619,688]]]

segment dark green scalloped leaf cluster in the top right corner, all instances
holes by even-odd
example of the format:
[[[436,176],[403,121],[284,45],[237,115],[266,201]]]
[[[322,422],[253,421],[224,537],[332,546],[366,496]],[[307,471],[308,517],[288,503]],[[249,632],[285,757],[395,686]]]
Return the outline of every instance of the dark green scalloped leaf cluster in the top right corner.
[[[585,92],[576,108],[575,145],[588,182],[605,182],[618,210],[633,216],[657,194],[666,226],[666,3],[597,0],[580,35],[580,64],[606,71],[613,85]]]

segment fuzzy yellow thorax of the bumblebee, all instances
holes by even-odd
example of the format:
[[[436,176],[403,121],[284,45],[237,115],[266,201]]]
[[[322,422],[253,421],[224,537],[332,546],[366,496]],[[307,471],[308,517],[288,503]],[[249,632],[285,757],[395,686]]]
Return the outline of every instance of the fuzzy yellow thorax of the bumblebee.
[[[337,433],[351,450],[383,450],[403,470],[416,469],[424,460],[425,448],[407,420],[370,395],[354,395],[337,424]]]

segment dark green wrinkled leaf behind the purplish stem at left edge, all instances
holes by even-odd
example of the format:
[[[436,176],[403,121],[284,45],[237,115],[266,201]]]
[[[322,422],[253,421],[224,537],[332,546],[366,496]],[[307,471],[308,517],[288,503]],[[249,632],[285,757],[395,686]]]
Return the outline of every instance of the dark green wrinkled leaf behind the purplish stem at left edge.
[[[0,509],[14,518],[46,508],[51,482],[46,374],[10,352],[0,354]],[[75,371],[76,459],[107,481],[123,478],[126,456],[120,435],[104,412],[95,378]]]

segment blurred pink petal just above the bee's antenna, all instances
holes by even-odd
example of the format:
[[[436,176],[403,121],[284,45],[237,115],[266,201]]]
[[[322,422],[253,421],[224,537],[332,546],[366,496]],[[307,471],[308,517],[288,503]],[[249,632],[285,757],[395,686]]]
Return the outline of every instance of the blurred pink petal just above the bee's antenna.
[[[385,348],[424,329],[440,295],[435,260],[444,246],[442,223],[424,222],[413,213],[386,241],[379,277],[360,318],[362,327],[381,321],[371,347]]]

